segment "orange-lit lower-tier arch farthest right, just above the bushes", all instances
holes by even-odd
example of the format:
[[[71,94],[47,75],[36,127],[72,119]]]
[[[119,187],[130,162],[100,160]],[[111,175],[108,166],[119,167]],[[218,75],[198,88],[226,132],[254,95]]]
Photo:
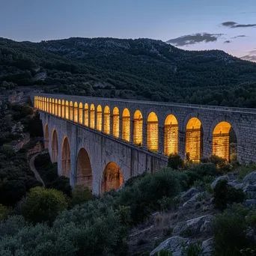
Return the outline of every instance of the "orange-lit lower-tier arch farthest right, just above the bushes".
[[[115,162],[109,162],[103,171],[101,182],[101,193],[112,189],[119,189],[124,183],[124,177],[121,169]]]

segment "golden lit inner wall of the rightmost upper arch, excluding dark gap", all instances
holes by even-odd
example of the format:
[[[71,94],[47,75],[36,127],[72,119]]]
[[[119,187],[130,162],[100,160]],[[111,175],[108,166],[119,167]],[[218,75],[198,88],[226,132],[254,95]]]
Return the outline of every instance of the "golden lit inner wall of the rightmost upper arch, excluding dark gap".
[[[213,154],[229,161],[229,131],[231,124],[221,122],[213,130]]]

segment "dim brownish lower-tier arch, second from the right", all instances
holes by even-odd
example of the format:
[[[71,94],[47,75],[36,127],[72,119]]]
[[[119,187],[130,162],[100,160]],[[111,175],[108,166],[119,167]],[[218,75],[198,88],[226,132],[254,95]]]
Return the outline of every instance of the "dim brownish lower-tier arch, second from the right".
[[[77,157],[76,183],[88,186],[88,188],[91,189],[91,191],[93,189],[91,161],[87,151],[83,147],[79,150],[79,154]]]

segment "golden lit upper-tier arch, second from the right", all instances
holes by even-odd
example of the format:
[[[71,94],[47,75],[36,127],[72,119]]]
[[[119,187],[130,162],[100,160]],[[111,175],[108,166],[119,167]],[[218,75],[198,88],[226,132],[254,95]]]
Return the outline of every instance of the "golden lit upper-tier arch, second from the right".
[[[190,118],[186,125],[186,159],[199,162],[203,154],[203,129],[198,118]]]

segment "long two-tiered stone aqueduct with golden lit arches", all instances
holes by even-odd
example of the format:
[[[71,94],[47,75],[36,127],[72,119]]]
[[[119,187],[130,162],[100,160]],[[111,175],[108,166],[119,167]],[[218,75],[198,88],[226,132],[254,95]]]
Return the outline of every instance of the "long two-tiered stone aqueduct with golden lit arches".
[[[238,161],[256,162],[255,109],[61,94],[34,94],[31,100],[58,174],[95,194],[157,171],[170,153],[192,161],[211,154],[229,160],[231,131]]]

